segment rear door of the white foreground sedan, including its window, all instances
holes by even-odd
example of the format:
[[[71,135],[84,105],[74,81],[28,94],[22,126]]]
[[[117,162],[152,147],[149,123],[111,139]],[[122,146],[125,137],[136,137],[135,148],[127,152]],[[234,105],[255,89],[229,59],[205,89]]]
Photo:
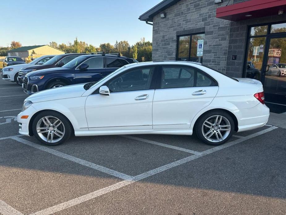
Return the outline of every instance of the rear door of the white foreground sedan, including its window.
[[[162,66],[153,99],[153,129],[188,129],[194,116],[216,96],[218,83],[186,66]]]

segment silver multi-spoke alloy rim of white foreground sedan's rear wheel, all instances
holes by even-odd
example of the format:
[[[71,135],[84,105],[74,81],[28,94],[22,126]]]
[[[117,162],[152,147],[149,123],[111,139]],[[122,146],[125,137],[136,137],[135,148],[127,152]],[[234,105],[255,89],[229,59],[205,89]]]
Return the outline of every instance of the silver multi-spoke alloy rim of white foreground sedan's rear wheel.
[[[203,137],[212,143],[225,140],[231,131],[231,125],[227,118],[215,115],[207,118],[202,126]]]

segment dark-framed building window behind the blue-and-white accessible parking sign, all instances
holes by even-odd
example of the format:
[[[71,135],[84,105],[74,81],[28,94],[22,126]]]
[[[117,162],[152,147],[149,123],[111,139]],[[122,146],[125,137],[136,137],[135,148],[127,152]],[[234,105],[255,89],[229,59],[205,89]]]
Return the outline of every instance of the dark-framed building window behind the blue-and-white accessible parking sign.
[[[197,56],[198,40],[204,39],[204,34],[192,34],[178,38],[177,60],[203,63],[203,56]]]

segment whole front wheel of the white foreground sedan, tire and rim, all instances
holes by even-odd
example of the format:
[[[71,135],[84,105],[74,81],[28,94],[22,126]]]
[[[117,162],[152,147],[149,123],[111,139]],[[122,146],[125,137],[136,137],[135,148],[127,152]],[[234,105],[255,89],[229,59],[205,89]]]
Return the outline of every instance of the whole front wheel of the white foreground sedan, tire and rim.
[[[70,138],[72,125],[62,114],[55,111],[44,111],[37,115],[32,124],[33,134],[49,146],[63,143]]]

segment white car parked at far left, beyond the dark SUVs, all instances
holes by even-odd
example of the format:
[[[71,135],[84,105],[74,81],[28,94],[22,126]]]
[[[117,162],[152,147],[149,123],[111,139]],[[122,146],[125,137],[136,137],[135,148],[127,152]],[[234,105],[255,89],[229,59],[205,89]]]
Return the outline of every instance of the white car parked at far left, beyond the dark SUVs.
[[[2,79],[5,81],[12,81],[16,82],[17,84],[19,81],[17,80],[19,70],[24,66],[32,66],[32,65],[42,65],[47,62],[49,59],[53,58],[55,55],[43,55],[31,61],[28,64],[17,64],[13,66],[7,66],[3,68],[2,72]]]

